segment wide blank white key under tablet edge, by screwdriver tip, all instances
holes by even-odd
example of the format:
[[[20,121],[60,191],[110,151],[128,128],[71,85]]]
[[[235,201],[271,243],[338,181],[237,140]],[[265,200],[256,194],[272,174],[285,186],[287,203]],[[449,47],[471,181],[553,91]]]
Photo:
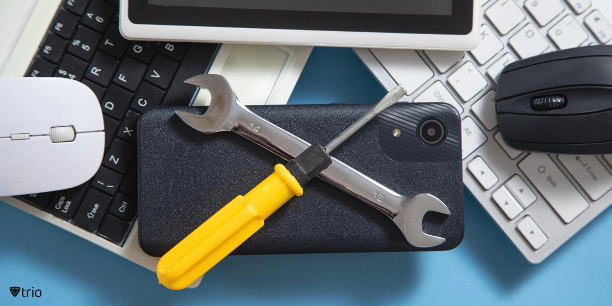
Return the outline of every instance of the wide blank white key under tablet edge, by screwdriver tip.
[[[433,72],[414,50],[371,49],[395,82],[406,87],[410,95],[429,79]]]

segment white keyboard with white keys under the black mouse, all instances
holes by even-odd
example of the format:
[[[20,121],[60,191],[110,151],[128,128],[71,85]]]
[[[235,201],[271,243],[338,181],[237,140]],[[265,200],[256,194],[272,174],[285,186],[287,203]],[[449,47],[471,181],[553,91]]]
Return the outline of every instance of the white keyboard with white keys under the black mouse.
[[[518,59],[612,45],[612,0],[482,0],[480,45],[469,51],[355,49],[403,101],[446,102],[461,114],[463,181],[531,263],[540,263],[612,203],[612,155],[528,153],[499,133],[497,78]]]

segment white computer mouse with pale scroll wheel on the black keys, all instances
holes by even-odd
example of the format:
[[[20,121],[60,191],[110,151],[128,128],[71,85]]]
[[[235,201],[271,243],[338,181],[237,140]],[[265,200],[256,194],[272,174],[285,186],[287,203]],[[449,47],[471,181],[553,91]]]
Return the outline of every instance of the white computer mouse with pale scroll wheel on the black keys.
[[[102,109],[81,82],[0,78],[0,197],[78,186],[104,154]]]

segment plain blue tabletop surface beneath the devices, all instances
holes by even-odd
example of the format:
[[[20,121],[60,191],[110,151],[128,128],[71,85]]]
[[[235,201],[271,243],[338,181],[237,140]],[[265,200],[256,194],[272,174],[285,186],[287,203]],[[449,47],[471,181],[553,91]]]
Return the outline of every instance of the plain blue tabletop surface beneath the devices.
[[[290,103],[378,101],[350,49],[315,48]],[[529,264],[465,190],[465,239],[448,252],[228,257],[194,290],[0,203],[0,305],[610,305],[612,212]],[[13,297],[8,287],[42,290]],[[28,287],[28,288],[29,288]]]

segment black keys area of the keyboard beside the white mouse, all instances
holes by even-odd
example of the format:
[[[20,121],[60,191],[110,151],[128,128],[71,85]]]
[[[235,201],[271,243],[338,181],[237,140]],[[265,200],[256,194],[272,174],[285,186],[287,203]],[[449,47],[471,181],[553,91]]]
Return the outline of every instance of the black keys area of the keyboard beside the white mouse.
[[[65,0],[26,76],[81,81],[100,100],[102,166],[88,183],[17,198],[119,246],[136,219],[136,121],[154,106],[190,103],[183,81],[206,73],[217,44],[136,42],[119,34],[117,0]]]

